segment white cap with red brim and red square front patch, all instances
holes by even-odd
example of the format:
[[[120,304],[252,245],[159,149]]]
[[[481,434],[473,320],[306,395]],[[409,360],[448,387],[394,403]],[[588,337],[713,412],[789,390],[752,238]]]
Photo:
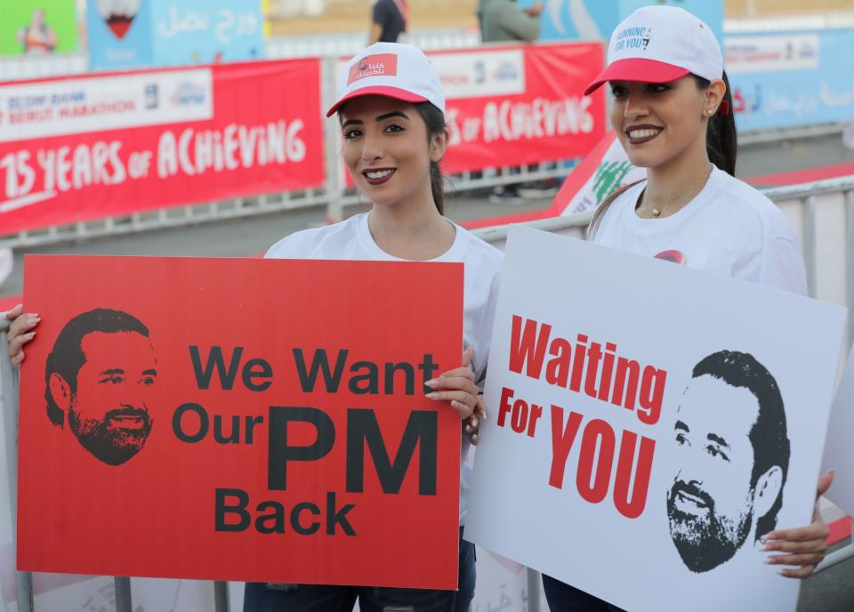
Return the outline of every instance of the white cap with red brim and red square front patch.
[[[445,93],[436,68],[411,44],[375,43],[347,62],[338,82],[338,101],[326,112],[363,95],[382,95],[405,102],[430,102],[445,114]]]

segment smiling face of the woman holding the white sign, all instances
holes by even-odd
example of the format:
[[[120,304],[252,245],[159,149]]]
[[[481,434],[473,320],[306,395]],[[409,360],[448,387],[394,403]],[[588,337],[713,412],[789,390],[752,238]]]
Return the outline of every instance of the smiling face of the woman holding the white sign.
[[[665,84],[612,81],[609,86],[611,125],[633,165],[708,162],[706,117],[720,101],[718,85],[700,89],[689,75]]]

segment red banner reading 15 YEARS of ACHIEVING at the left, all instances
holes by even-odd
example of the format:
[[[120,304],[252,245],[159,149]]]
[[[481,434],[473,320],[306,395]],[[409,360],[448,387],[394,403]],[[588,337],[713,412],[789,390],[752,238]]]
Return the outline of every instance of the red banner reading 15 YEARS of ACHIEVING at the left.
[[[0,85],[0,228],[317,187],[319,71],[281,60]]]

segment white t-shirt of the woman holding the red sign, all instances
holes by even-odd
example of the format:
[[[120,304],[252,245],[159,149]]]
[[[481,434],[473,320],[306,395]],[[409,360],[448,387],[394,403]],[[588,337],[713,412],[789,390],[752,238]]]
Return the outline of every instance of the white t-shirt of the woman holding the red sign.
[[[323,228],[304,229],[282,238],[264,257],[269,259],[333,259],[401,262],[376,245],[367,227],[370,213],[357,214],[347,221]],[[451,222],[451,221],[448,221]],[[495,320],[495,300],[501,278],[504,254],[487,245],[471,232],[453,224],[454,244],[431,262],[462,262],[463,271],[463,342],[474,347],[474,373],[482,389],[487,372],[489,341]],[[461,352],[462,352],[461,348]],[[464,461],[470,442],[463,436],[460,473],[460,525],[468,512],[471,467]]]

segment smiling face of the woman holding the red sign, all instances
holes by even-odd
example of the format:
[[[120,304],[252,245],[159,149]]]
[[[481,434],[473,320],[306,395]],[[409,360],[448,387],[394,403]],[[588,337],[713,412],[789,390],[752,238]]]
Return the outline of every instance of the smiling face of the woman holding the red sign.
[[[383,96],[348,101],[339,112],[342,157],[356,186],[375,205],[432,204],[430,163],[445,135],[429,136],[414,105]]]

